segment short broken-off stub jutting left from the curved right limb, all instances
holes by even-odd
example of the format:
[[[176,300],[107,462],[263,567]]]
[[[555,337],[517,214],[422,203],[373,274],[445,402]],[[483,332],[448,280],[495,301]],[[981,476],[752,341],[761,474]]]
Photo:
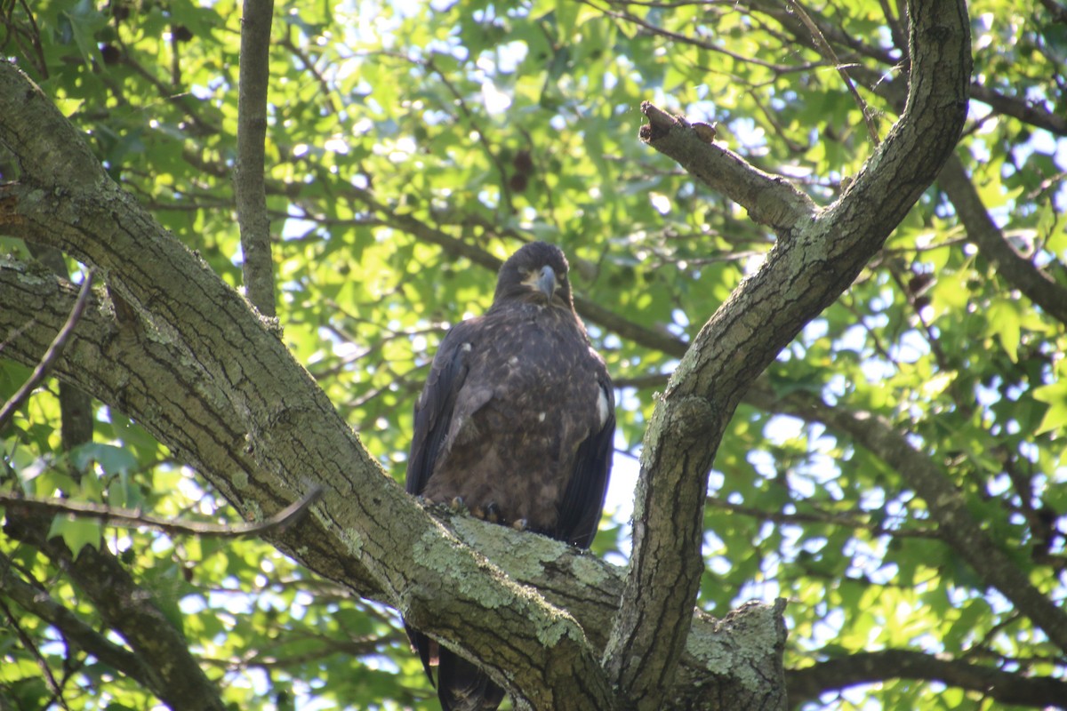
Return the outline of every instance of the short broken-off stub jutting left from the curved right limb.
[[[641,140],[674,159],[695,178],[748,210],[753,222],[779,233],[798,229],[818,210],[814,201],[785,178],[749,164],[737,153],[708,143],[682,116],[673,116],[646,101],[641,111],[649,123]]]

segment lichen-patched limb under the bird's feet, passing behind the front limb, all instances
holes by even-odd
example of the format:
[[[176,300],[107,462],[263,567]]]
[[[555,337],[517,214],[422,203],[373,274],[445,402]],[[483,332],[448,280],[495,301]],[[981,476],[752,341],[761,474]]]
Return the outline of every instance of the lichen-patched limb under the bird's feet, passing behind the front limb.
[[[17,264],[0,264],[0,303],[6,307],[0,309],[0,334],[25,326],[30,314],[37,317],[36,322],[11,341],[4,355],[21,362],[35,362],[57,324],[66,318],[76,293],[76,288],[65,281],[42,279]],[[275,495],[274,488],[257,479],[248,448],[228,446],[240,441],[230,432],[237,415],[224,399],[216,395],[214,388],[204,387],[200,363],[179,357],[173,343],[147,338],[139,324],[121,322],[110,304],[91,304],[54,372],[140,421],[172,447],[176,456],[205,472],[214,485],[243,482],[240,496],[235,495],[235,499],[250,516],[253,512],[278,507],[274,499],[282,495]],[[321,447],[319,438],[319,430],[313,430],[305,433],[303,443],[317,450]],[[349,462],[348,466],[356,465]],[[312,469],[298,467],[293,476],[323,481],[324,478],[316,479],[320,474]],[[274,532],[266,538],[323,577],[344,581],[363,597],[393,604],[364,565],[364,556],[349,552],[350,538],[341,535],[343,529],[330,517],[332,512],[353,508],[353,502],[361,498],[376,496],[373,491],[356,496],[347,487],[338,490],[336,485],[328,485],[320,513],[291,530]],[[396,527],[420,526],[425,513],[418,506],[414,511],[414,518],[404,515],[395,521]],[[482,551],[509,578],[536,587],[553,604],[574,615],[590,643],[598,650],[603,648],[618,611],[624,569],[544,536],[449,512],[434,513],[443,517],[448,530],[460,540]],[[446,551],[440,560],[447,563],[451,555]],[[474,580],[466,582],[475,585]],[[491,596],[492,589],[490,585],[487,595]],[[472,594],[477,595],[478,588]],[[781,664],[785,631],[781,611],[769,605],[747,608],[743,619],[747,621],[732,619],[729,625],[727,620],[716,623],[702,615],[691,619],[692,631],[669,698],[690,698],[688,695],[692,694],[698,697],[704,694],[705,700],[751,698],[755,699],[752,704],[737,708],[759,708],[759,699],[766,694],[766,680],[776,678]],[[761,649],[762,653],[753,656],[752,649]],[[742,653],[744,650],[749,651]],[[679,704],[673,708],[701,708],[697,700]]]

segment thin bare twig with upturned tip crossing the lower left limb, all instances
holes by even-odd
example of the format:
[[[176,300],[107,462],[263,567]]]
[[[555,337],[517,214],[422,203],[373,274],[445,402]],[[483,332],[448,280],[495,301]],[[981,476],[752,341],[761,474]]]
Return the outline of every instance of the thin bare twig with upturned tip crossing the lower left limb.
[[[175,521],[142,514],[140,511],[116,508],[87,501],[71,501],[69,499],[28,499],[0,492],[0,504],[13,508],[23,508],[34,514],[68,514],[79,518],[93,518],[108,526],[137,528],[150,526],[171,535],[214,536],[237,538],[240,536],[262,536],[267,533],[278,533],[296,523],[307,513],[307,508],[322,496],[322,487],[315,486],[303,496],[278,513],[258,523],[197,523],[194,521]]]

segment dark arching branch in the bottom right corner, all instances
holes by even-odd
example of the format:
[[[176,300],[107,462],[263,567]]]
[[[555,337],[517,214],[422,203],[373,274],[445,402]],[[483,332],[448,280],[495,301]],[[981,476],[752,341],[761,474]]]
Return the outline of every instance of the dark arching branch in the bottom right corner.
[[[849,655],[842,659],[817,662],[812,666],[785,673],[790,704],[814,701],[828,691],[888,679],[940,681],[950,686],[975,691],[1000,705],[1055,708],[1067,698],[1067,681],[1051,678],[1026,678],[934,655],[906,649],[887,649]]]

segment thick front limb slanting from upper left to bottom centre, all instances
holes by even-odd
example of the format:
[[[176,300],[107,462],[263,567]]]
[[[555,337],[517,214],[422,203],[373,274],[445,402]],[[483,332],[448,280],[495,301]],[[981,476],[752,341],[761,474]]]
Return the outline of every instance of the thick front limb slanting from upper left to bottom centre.
[[[0,66],[0,140],[23,169],[22,182],[0,187],[0,226],[100,268],[136,314],[121,326],[127,338],[165,343],[169,362],[189,360],[201,371],[168,394],[206,391],[207,400],[221,401],[227,410],[207,418],[220,426],[200,429],[197,434],[209,439],[203,442],[174,436],[163,425],[179,421],[185,427],[193,418],[172,410],[173,420],[165,422],[154,402],[141,420],[150,432],[256,518],[288,504],[307,482],[319,481],[327,496],[315,511],[333,538],[323,545],[347,551],[351,562],[345,567],[355,561],[365,566],[389,604],[495,673],[517,704],[611,707],[599,658],[574,618],[458,545],[384,476],[285,345],[243,300],[109,181],[70,125],[11,65]],[[61,156],[38,140],[42,125],[50,129],[49,140],[64,147]],[[65,173],[52,172],[57,160]],[[122,341],[115,342],[120,351]],[[205,448],[222,450],[227,466],[204,466],[198,455]],[[244,452],[250,460],[235,467]],[[319,569],[306,554],[310,546],[297,545],[303,555],[296,554],[294,545],[287,550]],[[459,619],[478,624],[458,625]]]

